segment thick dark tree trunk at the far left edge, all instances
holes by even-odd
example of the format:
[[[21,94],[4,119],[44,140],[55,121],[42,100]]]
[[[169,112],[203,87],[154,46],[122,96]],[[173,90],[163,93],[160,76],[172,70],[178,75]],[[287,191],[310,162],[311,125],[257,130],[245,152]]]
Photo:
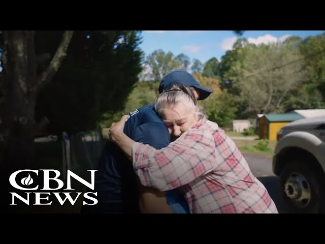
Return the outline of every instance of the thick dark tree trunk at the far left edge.
[[[3,53],[4,137],[2,164],[11,173],[32,167],[37,81],[34,32],[5,31]]]

